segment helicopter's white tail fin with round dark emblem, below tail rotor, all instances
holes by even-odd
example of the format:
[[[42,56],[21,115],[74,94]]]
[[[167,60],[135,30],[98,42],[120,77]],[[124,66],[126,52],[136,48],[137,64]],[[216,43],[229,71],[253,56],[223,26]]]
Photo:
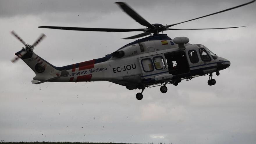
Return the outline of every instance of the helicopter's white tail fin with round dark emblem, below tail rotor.
[[[15,55],[19,55],[22,51],[17,52]],[[51,65],[38,55],[36,55],[33,51],[29,51],[21,59],[35,72],[34,80],[38,81],[48,81],[49,79],[53,79],[55,77],[61,76],[61,70],[57,70],[58,67]]]

